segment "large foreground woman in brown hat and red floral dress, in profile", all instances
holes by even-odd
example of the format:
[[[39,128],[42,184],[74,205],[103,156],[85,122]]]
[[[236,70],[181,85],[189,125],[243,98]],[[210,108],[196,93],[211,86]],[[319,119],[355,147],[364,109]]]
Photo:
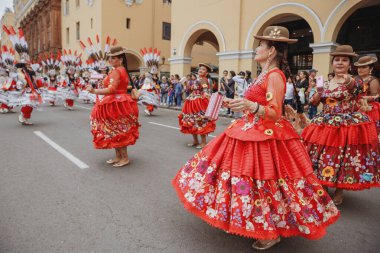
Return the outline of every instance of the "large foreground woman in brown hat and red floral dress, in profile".
[[[255,38],[263,72],[244,98],[224,100],[243,117],[191,158],[173,185],[187,210],[224,231],[257,238],[252,246],[263,250],[281,236],[321,238],[339,211],[318,183],[299,135],[282,118],[282,70],[290,73],[287,44],[297,40],[280,26]]]

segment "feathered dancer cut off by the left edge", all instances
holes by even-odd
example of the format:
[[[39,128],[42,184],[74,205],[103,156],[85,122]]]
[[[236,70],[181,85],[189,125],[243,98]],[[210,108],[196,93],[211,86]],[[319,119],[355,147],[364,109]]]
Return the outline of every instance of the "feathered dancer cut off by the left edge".
[[[14,91],[17,91],[16,82],[10,77],[11,70],[13,70],[13,76],[16,74],[14,55],[13,48],[8,50],[5,45],[0,50],[0,113],[12,112],[12,107],[9,106],[10,100],[15,98],[14,95],[19,96],[19,92],[14,94]]]

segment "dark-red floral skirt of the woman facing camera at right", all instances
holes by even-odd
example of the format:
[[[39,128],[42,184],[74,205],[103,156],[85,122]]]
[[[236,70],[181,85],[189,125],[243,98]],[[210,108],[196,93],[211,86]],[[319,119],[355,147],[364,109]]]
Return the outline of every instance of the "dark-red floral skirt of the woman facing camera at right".
[[[380,187],[379,142],[367,115],[319,114],[302,138],[321,184],[347,190]]]

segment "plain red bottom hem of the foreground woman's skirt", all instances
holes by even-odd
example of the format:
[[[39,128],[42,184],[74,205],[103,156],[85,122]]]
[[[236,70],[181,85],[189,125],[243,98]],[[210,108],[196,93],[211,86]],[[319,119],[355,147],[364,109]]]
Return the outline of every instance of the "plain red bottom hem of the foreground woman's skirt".
[[[269,232],[269,231],[252,231],[247,232],[247,230],[238,228],[238,227],[232,227],[230,224],[223,222],[223,221],[216,221],[213,219],[210,219],[207,217],[207,215],[199,210],[197,210],[193,205],[188,203],[186,201],[186,198],[183,196],[181,189],[178,187],[178,185],[175,183],[176,178],[172,180],[172,185],[177,192],[179,200],[182,202],[184,208],[192,213],[193,215],[197,216],[198,218],[201,218],[203,221],[207,222],[212,227],[221,229],[225,232],[239,235],[246,238],[253,238],[253,239],[260,239],[260,240],[272,240],[276,239],[279,236],[280,237],[292,237],[292,236],[301,236],[305,237],[310,240],[317,240],[322,238],[326,235],[326,228],[330,226],[331,224],[335,223],[339,217],[340,213],[338,213],[336,216],[331,217],[328,221],[324,222],[320,226],[310,226],[310,230],[315,231],[313,234],[305,235],[302,234],[298,229],[278,229],[277,232]]]

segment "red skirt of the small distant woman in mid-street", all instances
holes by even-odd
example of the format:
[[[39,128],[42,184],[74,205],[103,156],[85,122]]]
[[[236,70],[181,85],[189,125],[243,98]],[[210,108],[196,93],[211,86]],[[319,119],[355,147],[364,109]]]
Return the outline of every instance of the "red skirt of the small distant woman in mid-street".
[[[204,95],[186,98],[178,116],[180,131],[184,134],[209,134],[215,131],[215,121],[205,117],[209,99]]]

